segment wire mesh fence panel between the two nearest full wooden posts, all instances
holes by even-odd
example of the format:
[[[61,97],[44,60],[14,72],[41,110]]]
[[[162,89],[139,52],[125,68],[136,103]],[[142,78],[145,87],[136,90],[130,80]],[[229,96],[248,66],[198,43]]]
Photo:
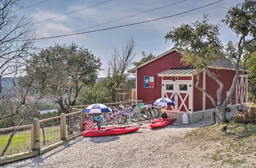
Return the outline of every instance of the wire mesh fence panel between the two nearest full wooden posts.
[[[57,116],[51,120],[41,120],[40,123],[40,147],[49,145],[60,140],[60,118]]]

